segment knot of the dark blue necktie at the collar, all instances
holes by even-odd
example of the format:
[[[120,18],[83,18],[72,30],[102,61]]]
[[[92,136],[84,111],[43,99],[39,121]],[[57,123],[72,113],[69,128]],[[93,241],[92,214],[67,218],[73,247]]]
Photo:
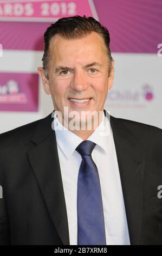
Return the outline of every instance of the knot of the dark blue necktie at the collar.
[[[95,145],[96,144],[92,141],[82,141],[77,146],[76,151],[81,155],[81,157],[91,155]]]

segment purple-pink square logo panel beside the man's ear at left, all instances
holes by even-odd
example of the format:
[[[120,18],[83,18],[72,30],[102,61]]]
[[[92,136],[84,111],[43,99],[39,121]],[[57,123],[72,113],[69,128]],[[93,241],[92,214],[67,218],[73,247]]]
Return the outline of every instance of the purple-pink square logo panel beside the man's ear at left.
[[[37,111],[38,74],[1,73],[0,111]]]

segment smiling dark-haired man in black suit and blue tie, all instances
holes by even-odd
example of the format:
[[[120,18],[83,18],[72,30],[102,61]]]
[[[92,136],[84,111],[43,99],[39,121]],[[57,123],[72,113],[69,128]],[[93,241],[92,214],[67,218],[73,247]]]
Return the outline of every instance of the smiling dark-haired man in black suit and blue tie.
[[[60,19],[44,34],[42,60],[55,111],[0,136],[0,243],[162,245],[162,132],[105,111],[107,29],[92,17]]]

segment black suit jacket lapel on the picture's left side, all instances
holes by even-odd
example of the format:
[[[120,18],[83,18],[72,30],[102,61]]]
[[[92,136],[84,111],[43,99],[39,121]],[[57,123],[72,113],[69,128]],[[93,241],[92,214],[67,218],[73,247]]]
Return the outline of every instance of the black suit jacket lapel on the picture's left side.
[[[28,157],[57,233],[63,245],[70,245],[66,202],[52,122],[50,114],[37,124],[31,138],[34,147],[28,151]]]

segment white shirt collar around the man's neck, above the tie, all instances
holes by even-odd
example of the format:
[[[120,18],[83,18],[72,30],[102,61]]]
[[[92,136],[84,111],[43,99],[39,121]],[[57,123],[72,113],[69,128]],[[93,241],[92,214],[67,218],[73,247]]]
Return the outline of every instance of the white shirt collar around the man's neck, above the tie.
[[[107,117],[103,112],[102,121],[100,125],[95,129],[95,131],[87,138],[89,141],[96,143],[103,150],[108,152],[108,136],[110,131],[110,124]],[[60,121],[57,119],[54,113],[54,130],[56,134],[56,141],[59,144],[64,155],[68,159],[74,153],[76,147],[83,141],[82,138],[77,136],[74,132],[68,130],[64,127]]]

